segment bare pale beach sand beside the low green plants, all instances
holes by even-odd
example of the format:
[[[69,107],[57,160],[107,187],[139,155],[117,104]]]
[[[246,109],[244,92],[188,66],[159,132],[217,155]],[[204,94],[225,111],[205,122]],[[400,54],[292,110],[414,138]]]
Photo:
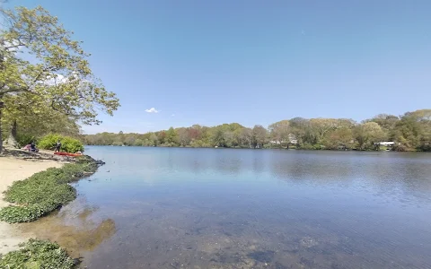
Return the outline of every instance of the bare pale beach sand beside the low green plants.
[[[23,161],[13,158],[0,157],[0,208],[7,206],[3,200],[3,192],[12,185],[13,181],[29,178],[32,174],[51,167],[61,167],[57,161]],[[17,225],[0,221],[0,254],[18,248],[18,244],[31,238],[30,233],[22,233]]]

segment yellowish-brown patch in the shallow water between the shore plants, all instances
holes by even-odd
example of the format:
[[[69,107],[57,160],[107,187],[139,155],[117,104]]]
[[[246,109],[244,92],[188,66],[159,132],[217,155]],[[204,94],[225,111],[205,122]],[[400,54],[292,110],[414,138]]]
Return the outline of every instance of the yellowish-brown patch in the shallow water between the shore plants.
[[[66,224],[67,213],[48,216],[40,221],[24,224],[23,229],[31,232],[38,239],[56,241],[65,247],[72,256],[81,256],[84,251],[92,251],[104,240],[109,239],[116,232],[112,219],[92,221],[92,214],[97,209],[84,208],[75,215],[74,224]]]

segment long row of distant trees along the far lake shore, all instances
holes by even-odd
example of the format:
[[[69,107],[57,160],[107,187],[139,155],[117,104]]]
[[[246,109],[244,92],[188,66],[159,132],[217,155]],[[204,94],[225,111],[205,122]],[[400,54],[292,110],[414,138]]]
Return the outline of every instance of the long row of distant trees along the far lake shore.
[[[400,117],[380,114],[361,123],[347,118],[295,117],[268,128],[232,123],[171,127],[147,134],[88,134],[84,142],[89,145],[425,152],[431,151],[431,109],[407,112]]]

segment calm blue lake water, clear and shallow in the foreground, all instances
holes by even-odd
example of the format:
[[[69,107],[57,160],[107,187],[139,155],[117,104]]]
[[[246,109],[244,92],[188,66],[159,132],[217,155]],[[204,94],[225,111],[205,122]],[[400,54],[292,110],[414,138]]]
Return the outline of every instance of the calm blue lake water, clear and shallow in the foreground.
[[[431,154],[86,153],[106,165],[31,224],[83,268],[431,268]]]

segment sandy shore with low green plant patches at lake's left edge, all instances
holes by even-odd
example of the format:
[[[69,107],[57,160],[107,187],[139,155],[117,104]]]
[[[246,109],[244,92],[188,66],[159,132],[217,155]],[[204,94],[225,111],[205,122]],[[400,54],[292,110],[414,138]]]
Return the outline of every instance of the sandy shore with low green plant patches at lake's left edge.
[[[31,161],[26,161],[29,159]],[[53,238],[25,223],[45,219],[74,201],[76,189],[70,183],[92,175],[103,164],[103,161],[96,161],[88,155],[71,158],[53,155],[48,151],[31,153],[13,150],[1,154],[0,267],[27,268],[36,263],[43,268],[71,269],[79,265],[80,257],[70,256],[64,246],[66,244],[58,244]],[[110,223],[106,221],[104,224],[115,230],[114,225],[108,225]],[[57,236],[67,228],[57,226]],[[46,231],[47,227],[43,230]],[[50,229],[48,234],[51,234]],[[50,258],[47,259],[47,256]]]

